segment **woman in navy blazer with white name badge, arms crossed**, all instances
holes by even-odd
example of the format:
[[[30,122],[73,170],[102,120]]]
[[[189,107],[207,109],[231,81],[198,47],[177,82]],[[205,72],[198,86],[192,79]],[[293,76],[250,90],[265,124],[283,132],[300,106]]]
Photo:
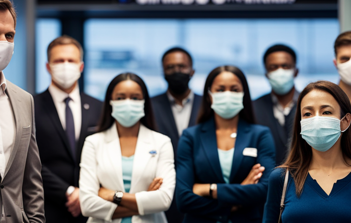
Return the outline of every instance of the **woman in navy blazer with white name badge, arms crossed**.
[[[203,96],[199,124],[185,129],[178,145],[176,199],[183,223],[259,223],[275,166],[271,132],[254,124],[238,68],[211,71]]]

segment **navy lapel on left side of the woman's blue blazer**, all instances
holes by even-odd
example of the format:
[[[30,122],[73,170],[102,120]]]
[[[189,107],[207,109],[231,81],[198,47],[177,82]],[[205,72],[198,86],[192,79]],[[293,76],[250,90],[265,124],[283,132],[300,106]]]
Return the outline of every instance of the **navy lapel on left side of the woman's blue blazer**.
[[[213,171],[216,173],[219,182],[224,183],[222,169],[219,163],[219,156],[218,156],[218,146],[217,146],[217,137],[216,137],[216,130],[214,126],[214,119],[211,118],[210,120],[206,121],[201,129],[200,138],[202,149],[204,150],[208,162],[210,163]]]

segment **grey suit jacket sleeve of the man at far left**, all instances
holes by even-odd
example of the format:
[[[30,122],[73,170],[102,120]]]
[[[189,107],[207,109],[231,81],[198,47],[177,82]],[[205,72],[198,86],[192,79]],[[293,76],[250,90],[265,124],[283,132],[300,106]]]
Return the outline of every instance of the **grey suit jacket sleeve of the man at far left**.
[[[32,129],[23,177],[23,209],[30,223],[45,223],[41,163],[35,140],[34,102],[30,96]]]

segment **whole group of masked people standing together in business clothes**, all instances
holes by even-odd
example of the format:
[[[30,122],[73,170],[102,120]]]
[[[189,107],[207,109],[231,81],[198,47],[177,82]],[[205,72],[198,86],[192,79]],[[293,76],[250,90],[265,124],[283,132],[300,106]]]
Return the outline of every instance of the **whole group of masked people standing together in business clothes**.
[[[1,223],[350,221],[351,31],[335,41],[339,86],[299,93],[296,53],[279,44],[263,56],[271,93],[252,102],[244,73],[220,66],[199,96],[175,47],[166,93],[150,98],[127,72],[100,102],[79,91],[83,49],[69,36],[48,46],[45,92],[7,81],[15,25],[0,0]]]

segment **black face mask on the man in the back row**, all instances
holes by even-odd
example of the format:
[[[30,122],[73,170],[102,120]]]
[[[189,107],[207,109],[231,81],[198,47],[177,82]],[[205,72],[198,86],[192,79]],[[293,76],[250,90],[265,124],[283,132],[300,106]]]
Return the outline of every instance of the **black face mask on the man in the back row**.
[[[188,89],[187,84],[190,81],[190,74],[176,72],[170,75],[165,75],[168,82],[168,88],[176,95],[184,94]]]

